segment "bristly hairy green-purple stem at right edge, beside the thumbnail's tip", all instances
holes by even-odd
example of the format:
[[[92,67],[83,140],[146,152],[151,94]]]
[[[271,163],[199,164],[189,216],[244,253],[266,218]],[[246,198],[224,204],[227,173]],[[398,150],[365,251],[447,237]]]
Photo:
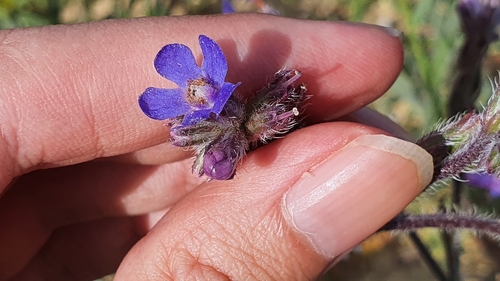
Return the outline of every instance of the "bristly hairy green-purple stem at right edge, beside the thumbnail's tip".
[[[495,79],[493,94],[481,112],[452,117],[417,141],[434,159],[436,182],[463,180],[464,173],[500,176],[500,89]]]

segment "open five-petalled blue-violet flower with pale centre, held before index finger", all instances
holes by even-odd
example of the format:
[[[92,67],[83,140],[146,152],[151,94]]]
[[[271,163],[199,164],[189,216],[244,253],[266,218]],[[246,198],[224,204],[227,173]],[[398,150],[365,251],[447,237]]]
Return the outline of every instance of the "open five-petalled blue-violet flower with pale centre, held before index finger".
[[[139,97],[142,111],[150,118],[164,120],[183,116],[189,126],[214,114],[219,116],[227,100],[239,86],[225,82],[227,61],[219,45],[199,36],[203,53],[201,68],[191,50],[183,44],[169,44],[156,55],[156,71],[179,88],[147,88]]]

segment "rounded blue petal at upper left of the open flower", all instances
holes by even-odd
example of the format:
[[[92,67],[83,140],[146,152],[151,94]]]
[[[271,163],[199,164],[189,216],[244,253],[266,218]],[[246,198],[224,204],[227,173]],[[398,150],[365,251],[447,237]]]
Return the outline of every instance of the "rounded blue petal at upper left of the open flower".
[[[188,80],[201,77],[201,69],[191,50],[183,44],[169,44],[156,55],[156,71],[181,88],[186,88]]]

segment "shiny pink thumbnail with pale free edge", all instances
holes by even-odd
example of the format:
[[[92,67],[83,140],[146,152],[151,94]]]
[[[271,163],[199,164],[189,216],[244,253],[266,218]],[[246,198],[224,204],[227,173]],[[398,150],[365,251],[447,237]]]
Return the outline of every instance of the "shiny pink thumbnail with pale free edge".
[[[432,157],[421,147],[363,135],[302,175],[284,197],[285,217],[334,258],[396,216],[432,173]]]

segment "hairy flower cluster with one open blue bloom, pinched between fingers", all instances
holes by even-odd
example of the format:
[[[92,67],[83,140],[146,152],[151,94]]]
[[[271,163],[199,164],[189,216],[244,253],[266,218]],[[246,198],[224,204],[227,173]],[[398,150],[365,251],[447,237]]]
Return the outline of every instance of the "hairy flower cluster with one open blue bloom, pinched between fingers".
[[[299,71],[282,69],[255,97],[245,100],[235,93],[240,83],[224,81],[227,61],[219,45],[205,35],[199,42],[201,68],[185,45],[160,50],[155,68],[179,88],[147,88],[139,105],[148,117],[168,120],[173,145],[193,149],[195,174],[231,179],[249,149],[297,127],[306,88],[293,85]]]

